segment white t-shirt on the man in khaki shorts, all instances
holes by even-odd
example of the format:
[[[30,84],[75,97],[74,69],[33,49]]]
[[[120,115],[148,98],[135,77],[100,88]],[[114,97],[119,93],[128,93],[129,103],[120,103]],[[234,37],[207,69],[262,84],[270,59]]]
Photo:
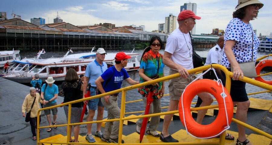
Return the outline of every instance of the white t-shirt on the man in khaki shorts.
[[[185,37],[185,38],[184,38]],[[189,47],[189,48],[188,48]],[[189,33],[183,34],[179,28],[167,38],[165,50],[171,53],[171,60],[186,69],[193,69],[193,47]]]

